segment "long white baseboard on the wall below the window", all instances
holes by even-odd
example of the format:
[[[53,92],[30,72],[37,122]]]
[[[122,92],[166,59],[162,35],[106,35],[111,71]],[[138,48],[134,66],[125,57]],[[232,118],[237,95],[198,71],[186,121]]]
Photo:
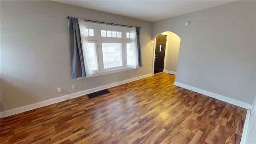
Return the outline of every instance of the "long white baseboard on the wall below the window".
[[[7,116],[12,116],[14,114],[19,114],[19,113],[26,112],[26,111],[29,111],[29,110],[34,110],[36,108],[41,108],[43,106],[48,106],[50,104],[55,104],[57,102],[62,102],[62,101],[65,101],[65,100],[69,100],[71,98],[76,98],[76,97],[79,97],[79,96],[84,96],[84,95],[90,94],[92,92],[97,92],[99,90],[104,90],[106,88],[111,88],[111,87],[114,87],[114,86],[119,86],[121,84],[126,84],[128,82],[133,82],[135,80],[140,80],[142,78],[147,78],[149,76],[152,76],[152,74],[146,74],[144,76],[139,76],[139,77],[131,78],[131,79],[128,79],[128,80],[123,80],[123,81],[120,81],[120,82],[115,82],[115,83],[112,83],[112,84],[107,84],[105,86],[100,86],[100,87],[97,87],[97,88],[92,88],[92,89],[89,89],[89,90],[84,90],[84,91],[81,91],[81,92],[76,92],[76,93],[73,93],[73,94],[68,94],[68,95],[65,95],[65,96],[60,96],[58,98],[53,98],[53,99],[50,99],[50,100],[45,100],[45,101],[42,101],[42,102],[37,102],[37,103],[30,104],[30,105],[27,105],[27,106],[22,106],[22,107],[14,108],[14,109],[11,109],[11,110],[6,110],[6,111],[1,112],[1,118],[7,117]]]

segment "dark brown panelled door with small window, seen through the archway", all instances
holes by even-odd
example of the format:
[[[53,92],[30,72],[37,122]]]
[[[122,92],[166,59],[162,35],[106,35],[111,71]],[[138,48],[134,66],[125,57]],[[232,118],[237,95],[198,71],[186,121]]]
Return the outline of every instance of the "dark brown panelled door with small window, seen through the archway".
[[[166,35],[160,34],[158,37],[156,37],[154,74],[164,71],[165,46]]]

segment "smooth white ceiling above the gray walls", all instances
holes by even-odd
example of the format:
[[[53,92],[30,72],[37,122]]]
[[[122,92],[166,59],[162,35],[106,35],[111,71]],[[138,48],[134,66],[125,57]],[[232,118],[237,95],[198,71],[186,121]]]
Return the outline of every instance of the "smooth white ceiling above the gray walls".
[[[150,22],[187,14],[235,0],[54,0]]]

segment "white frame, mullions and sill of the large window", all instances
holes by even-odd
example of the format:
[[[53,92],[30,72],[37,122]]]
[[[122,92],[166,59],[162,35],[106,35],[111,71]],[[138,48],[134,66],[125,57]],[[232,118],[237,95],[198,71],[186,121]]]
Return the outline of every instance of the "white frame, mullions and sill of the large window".
[[[78,79],[90,78],[94,76],[101,76],[105,74],[111,74],[115,72],[122,72],[126,70],[133,70],[134,68],[131,65],[127,65],[127,48],[126,43],[132,43],[131,38],[126,38],[126,32],[131,33],[132,28],[121,27],[121,26],[111,26],[106,24],[97,24],[92,22],[86,22],[86,28],[94,29],[94,36],[87,36],[87,41],[96,41],[98,48],[98,67],[99,71],[93,71],[92,76],[81,77]],[[110,30],[115,32],[122,32],[122,38],[113,38],[113,37],[102,37],[101,30]],[[104,68],[103,65],[103,55],[102,55],[102,43],[122,43],[122,66]]]

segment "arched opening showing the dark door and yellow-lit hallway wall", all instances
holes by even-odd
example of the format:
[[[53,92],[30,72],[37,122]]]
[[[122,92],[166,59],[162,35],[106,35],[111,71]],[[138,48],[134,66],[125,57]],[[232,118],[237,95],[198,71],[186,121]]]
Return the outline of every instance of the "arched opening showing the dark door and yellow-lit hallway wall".
[[[152,74],[167,72],[176,74],[180,37],[166,31],[154,38]]]

